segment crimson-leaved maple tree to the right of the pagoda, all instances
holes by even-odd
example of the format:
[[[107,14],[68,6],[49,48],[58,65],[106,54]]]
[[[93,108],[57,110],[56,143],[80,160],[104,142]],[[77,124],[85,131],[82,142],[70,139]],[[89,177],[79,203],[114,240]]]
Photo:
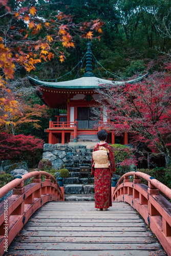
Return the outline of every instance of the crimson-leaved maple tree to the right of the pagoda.
[[[116,135],[133,133],[132,141],[141,141],[153,153],[170,161],[171,146],[171,87],[170,77],[156,73],[142,82],[124,86],[105,86],[98,91],[101,105],[108,108],[113,123],[105,128]]]

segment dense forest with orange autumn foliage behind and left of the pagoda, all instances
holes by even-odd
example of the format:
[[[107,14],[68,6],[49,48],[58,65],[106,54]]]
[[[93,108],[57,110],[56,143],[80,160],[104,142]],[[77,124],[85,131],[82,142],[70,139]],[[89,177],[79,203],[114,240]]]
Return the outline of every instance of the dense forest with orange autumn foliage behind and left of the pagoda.
[[[1,50],[6,47],[15,55],[11,76],[10,70],[5,73],[1,62],[1,78],[5,81],[1,96],[8,94],[11,102],[11,109],[7,108],[9,102],[1,102],[1,145],[4,142],[7,145],[6,150],[0,152],[1,159],[12,157],[12,136],[16,141],[22,139],[22,145],[26,147],[25,157],[29,150],[25,136],[37,139],[32,142],[34,146],[40,147],[43,141],[47,143],[48,135],[44,129],[49,126],[49,119],[55,120],[55,115],[61,112],[49,109],[41,102],[30,87],[27,74],[46,81],[81,77],[86,66],[81,59],[87,51],[88,40],[92,40],[92,52],[98,60],[93,63],[92,71],[97,77],[124,80],[146,72],[169,74],[171,12],[168,0],[1,0],[0,5]],[[68,27],[62,27],[65,31],[62,32],[60,26]],[[17,34],[18,28],[22,38]],[[67,34],[69,29],[70,35]],[[46,41],[42,39],[45,36]],[[68,36],[67,39],[64,36]],[[22,48],[24,44],[30,44],[32,49]],[[29,51],[32,53],[29,61],[32,57],[32,62],[26,61]],[[33,57],[34,54],[39,54],[39,58]],[[11,58],[14,57],[10,55]],[[18,152],[21,156],[22,148],[19,150],[17,146],[16,151],[15,146],[14,155]],[[33,147],[34,157],[35,152],[38,152],[36,146]]]

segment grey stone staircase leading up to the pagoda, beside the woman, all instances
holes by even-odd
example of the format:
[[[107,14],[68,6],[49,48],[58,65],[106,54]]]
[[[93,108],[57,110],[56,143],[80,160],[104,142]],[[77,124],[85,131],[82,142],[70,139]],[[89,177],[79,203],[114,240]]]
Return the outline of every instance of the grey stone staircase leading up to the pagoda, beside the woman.
[[[92,152],[92,145],[67,148],[65,168],[69,170],[70,177],[63,179],[66,201],[94,201],[94,178],[91,177]],[[89,167],[90,174],[81,174],[81,166]]]

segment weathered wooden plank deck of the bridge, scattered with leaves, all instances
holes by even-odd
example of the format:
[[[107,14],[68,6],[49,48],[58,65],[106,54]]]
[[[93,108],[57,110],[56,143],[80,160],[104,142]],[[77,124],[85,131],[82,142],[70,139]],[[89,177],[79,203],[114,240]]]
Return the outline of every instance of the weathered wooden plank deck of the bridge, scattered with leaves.
[[[97,211],[94,202],[49,202],[35,212],[5,255],[166,255],[137,212],[123,202]]]

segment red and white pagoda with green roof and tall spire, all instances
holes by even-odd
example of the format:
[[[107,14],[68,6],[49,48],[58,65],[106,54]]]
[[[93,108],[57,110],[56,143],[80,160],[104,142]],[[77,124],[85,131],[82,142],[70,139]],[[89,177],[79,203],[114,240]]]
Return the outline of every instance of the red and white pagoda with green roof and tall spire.
[[[87,43],[86,53],[86,73],[81,78],[63,82],[46,82],[28,76],[39,98],[52,109],[67,110],[67,114],[59,114],[56,121],[49,121],[49,128],[45,131],[49,133],[49,143],[72,143],[72,142],[95,142],[97,132],[105,129],[105,123],[111,122],[106,114],[106,108],[100,108],[103,113],[99,120],[95,119],[91,108],[97,105],[96,100],[99,94],[95,91],[99,89],[99,84],[119,84],[124,85],[125,81],[109,81],[95,77],[92,73],[92,52],[91,42]],[[127,82],[134,83],[145,77],[141,76]],[[93,120],[94,119],[94,120]],[[103,125],[101,125],[103,124]],[[103,127],[103,128],[102,128]],[[108,143],[127,144],[127,133],[121,137],[115,137],[113,132],[109,133]]]

